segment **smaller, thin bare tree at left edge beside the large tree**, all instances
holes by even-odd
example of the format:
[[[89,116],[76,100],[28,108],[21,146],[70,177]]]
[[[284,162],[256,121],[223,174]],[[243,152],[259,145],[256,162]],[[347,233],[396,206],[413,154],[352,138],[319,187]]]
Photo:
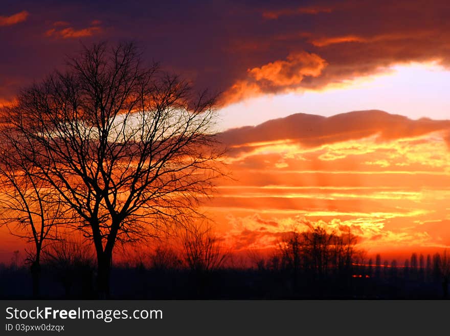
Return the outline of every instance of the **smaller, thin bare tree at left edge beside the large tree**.
[[[1,130],[0,144],[0,224],[15,236],[33,245],[28,252],[33,296],[39,296],[41,252],[47,241],[57,239],[56,224],[63,208],[49,185],[35,178],[34,167],[23,153],[17,153],[18,137],[8,128]]]

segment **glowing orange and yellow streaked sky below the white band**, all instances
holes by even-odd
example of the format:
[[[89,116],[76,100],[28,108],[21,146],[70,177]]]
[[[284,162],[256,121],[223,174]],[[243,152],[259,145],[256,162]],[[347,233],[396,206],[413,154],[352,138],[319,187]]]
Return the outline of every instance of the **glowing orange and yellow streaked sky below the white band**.
[[[369,254],[450,247],[449,126],[359,111],[229,130],[233,179],[206,209],[238,250],[274,246],[305,222],[350,226]]]

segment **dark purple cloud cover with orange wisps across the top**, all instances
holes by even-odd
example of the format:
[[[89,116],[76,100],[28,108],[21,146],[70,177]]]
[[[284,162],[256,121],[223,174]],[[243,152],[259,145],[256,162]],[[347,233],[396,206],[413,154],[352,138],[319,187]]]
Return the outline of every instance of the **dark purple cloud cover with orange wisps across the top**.
[[[0,99],[60,66],[65,54],[80,48],[80,40],[100,38],[140,42],[149,61],[162,61],[198,87],[226,93],[224,103],[320,89],[399,62],[437,60],[447,66],[449,16],[443,0],[304,1],[301,6],[286,0],[5,0]]]

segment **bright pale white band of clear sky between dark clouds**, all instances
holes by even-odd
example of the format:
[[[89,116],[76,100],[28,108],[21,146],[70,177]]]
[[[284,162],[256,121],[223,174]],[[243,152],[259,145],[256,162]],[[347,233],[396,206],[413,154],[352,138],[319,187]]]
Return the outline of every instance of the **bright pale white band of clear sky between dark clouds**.
[[[301,89],[265,95],[220,110],[222,129],[257,125],[294,113],[332,116],[338,113],[380,109],[412,119],[446,119],[450,101],[450,71],[439,60],[411,62],[379,69],[370,76],[355,76],[319,90]]]

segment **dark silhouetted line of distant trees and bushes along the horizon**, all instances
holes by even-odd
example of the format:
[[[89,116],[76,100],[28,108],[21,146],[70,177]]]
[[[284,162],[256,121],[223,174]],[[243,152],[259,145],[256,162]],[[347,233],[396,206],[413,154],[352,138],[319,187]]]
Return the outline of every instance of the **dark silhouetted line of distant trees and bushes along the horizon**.
[[[448,297],[446,251],[413,253],[402,263],[377,254],[373,262],[356,243],[351,230],[311,226],[285,233],[272,255],[254,254],[249,256],[253,264],[239,264],[211,226],[194,225],[171,242],[138,245],[129,254],[124,250],[124,259],[111,270],[117,281],[124,277],[131,284],[133,298]],[[16,251],[11,267],[0,267],[0,282],[20,272],[19,259]],[[93,298],[94,260],[94,251],[82,240],[55,241],[42,255],[43,274],[59,284],[66,298]]]

